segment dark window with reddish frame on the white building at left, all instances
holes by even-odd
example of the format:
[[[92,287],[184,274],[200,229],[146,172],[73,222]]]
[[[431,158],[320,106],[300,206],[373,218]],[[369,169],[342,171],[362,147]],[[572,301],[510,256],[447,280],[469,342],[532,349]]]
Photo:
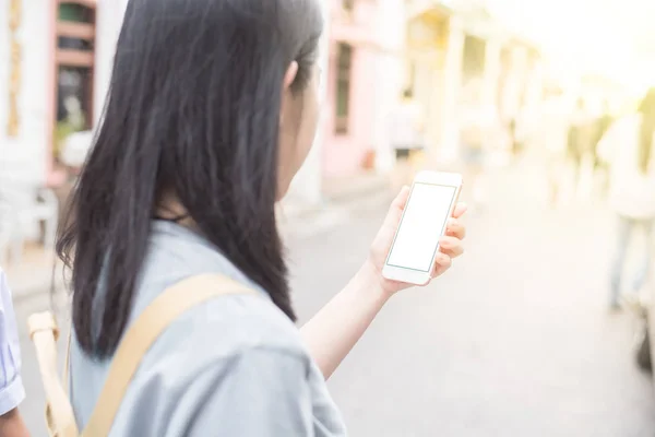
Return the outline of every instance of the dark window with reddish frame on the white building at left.
[[[66,138],[93,126],[96,11],[88,1],[61,1],[57,15],[55,157]]]

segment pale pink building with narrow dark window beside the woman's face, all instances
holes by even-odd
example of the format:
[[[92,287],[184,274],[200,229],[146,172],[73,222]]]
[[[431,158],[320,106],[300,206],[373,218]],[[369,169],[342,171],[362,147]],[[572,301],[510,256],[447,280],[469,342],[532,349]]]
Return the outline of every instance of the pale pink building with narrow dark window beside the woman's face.
[[[385,111],[401,95],[401,66],[393,55],[402,51],[404,14],[404,0],[330,1],[320,169],[326,179],[372,164]]]

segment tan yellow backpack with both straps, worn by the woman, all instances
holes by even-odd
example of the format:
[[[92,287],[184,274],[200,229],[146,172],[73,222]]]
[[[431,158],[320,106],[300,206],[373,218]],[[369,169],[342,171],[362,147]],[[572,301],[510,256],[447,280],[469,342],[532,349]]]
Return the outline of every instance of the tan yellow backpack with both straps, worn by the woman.
[[[222,275],[191,276],[166,288],[123,333],[114,354],[107,380],[95,409],[80,433],[68,395],[71,336],[68,338],[63,381],[57,371],[59,329],[50,311],[32,315],[27,321],[36,347],[38,367],[46,392],[46,424],[50,437],[106,437],[142,358],[157,338],[187,310],[228,294],[257,292]]]

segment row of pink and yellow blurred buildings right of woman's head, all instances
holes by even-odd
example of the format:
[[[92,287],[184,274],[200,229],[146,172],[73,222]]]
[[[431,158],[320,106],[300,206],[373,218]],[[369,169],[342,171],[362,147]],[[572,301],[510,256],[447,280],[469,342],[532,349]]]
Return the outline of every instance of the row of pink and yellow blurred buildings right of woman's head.
[[[478,79],[480,103],[499,111],[501,103],[517,111],[539,94],[535,50],[512,43],[481,2],[332,0],[331,7],[327,178],[360,172],[373,152],[376,169],[391,167],[386,116],[404,90],[422,107],[428,154],[440,162],[457,157],[457,106],[467,81]]]

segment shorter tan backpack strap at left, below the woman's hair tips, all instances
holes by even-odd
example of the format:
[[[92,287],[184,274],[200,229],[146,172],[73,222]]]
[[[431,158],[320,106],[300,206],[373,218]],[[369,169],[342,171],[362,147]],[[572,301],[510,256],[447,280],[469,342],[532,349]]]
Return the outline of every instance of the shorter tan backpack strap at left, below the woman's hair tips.
[[[50,436],[78,437],[75,415],[57,370],[59,329],[51,312],[39,312],[27,319],[29,338],[36,349],[39,371],[46,392],[46,422]]]

